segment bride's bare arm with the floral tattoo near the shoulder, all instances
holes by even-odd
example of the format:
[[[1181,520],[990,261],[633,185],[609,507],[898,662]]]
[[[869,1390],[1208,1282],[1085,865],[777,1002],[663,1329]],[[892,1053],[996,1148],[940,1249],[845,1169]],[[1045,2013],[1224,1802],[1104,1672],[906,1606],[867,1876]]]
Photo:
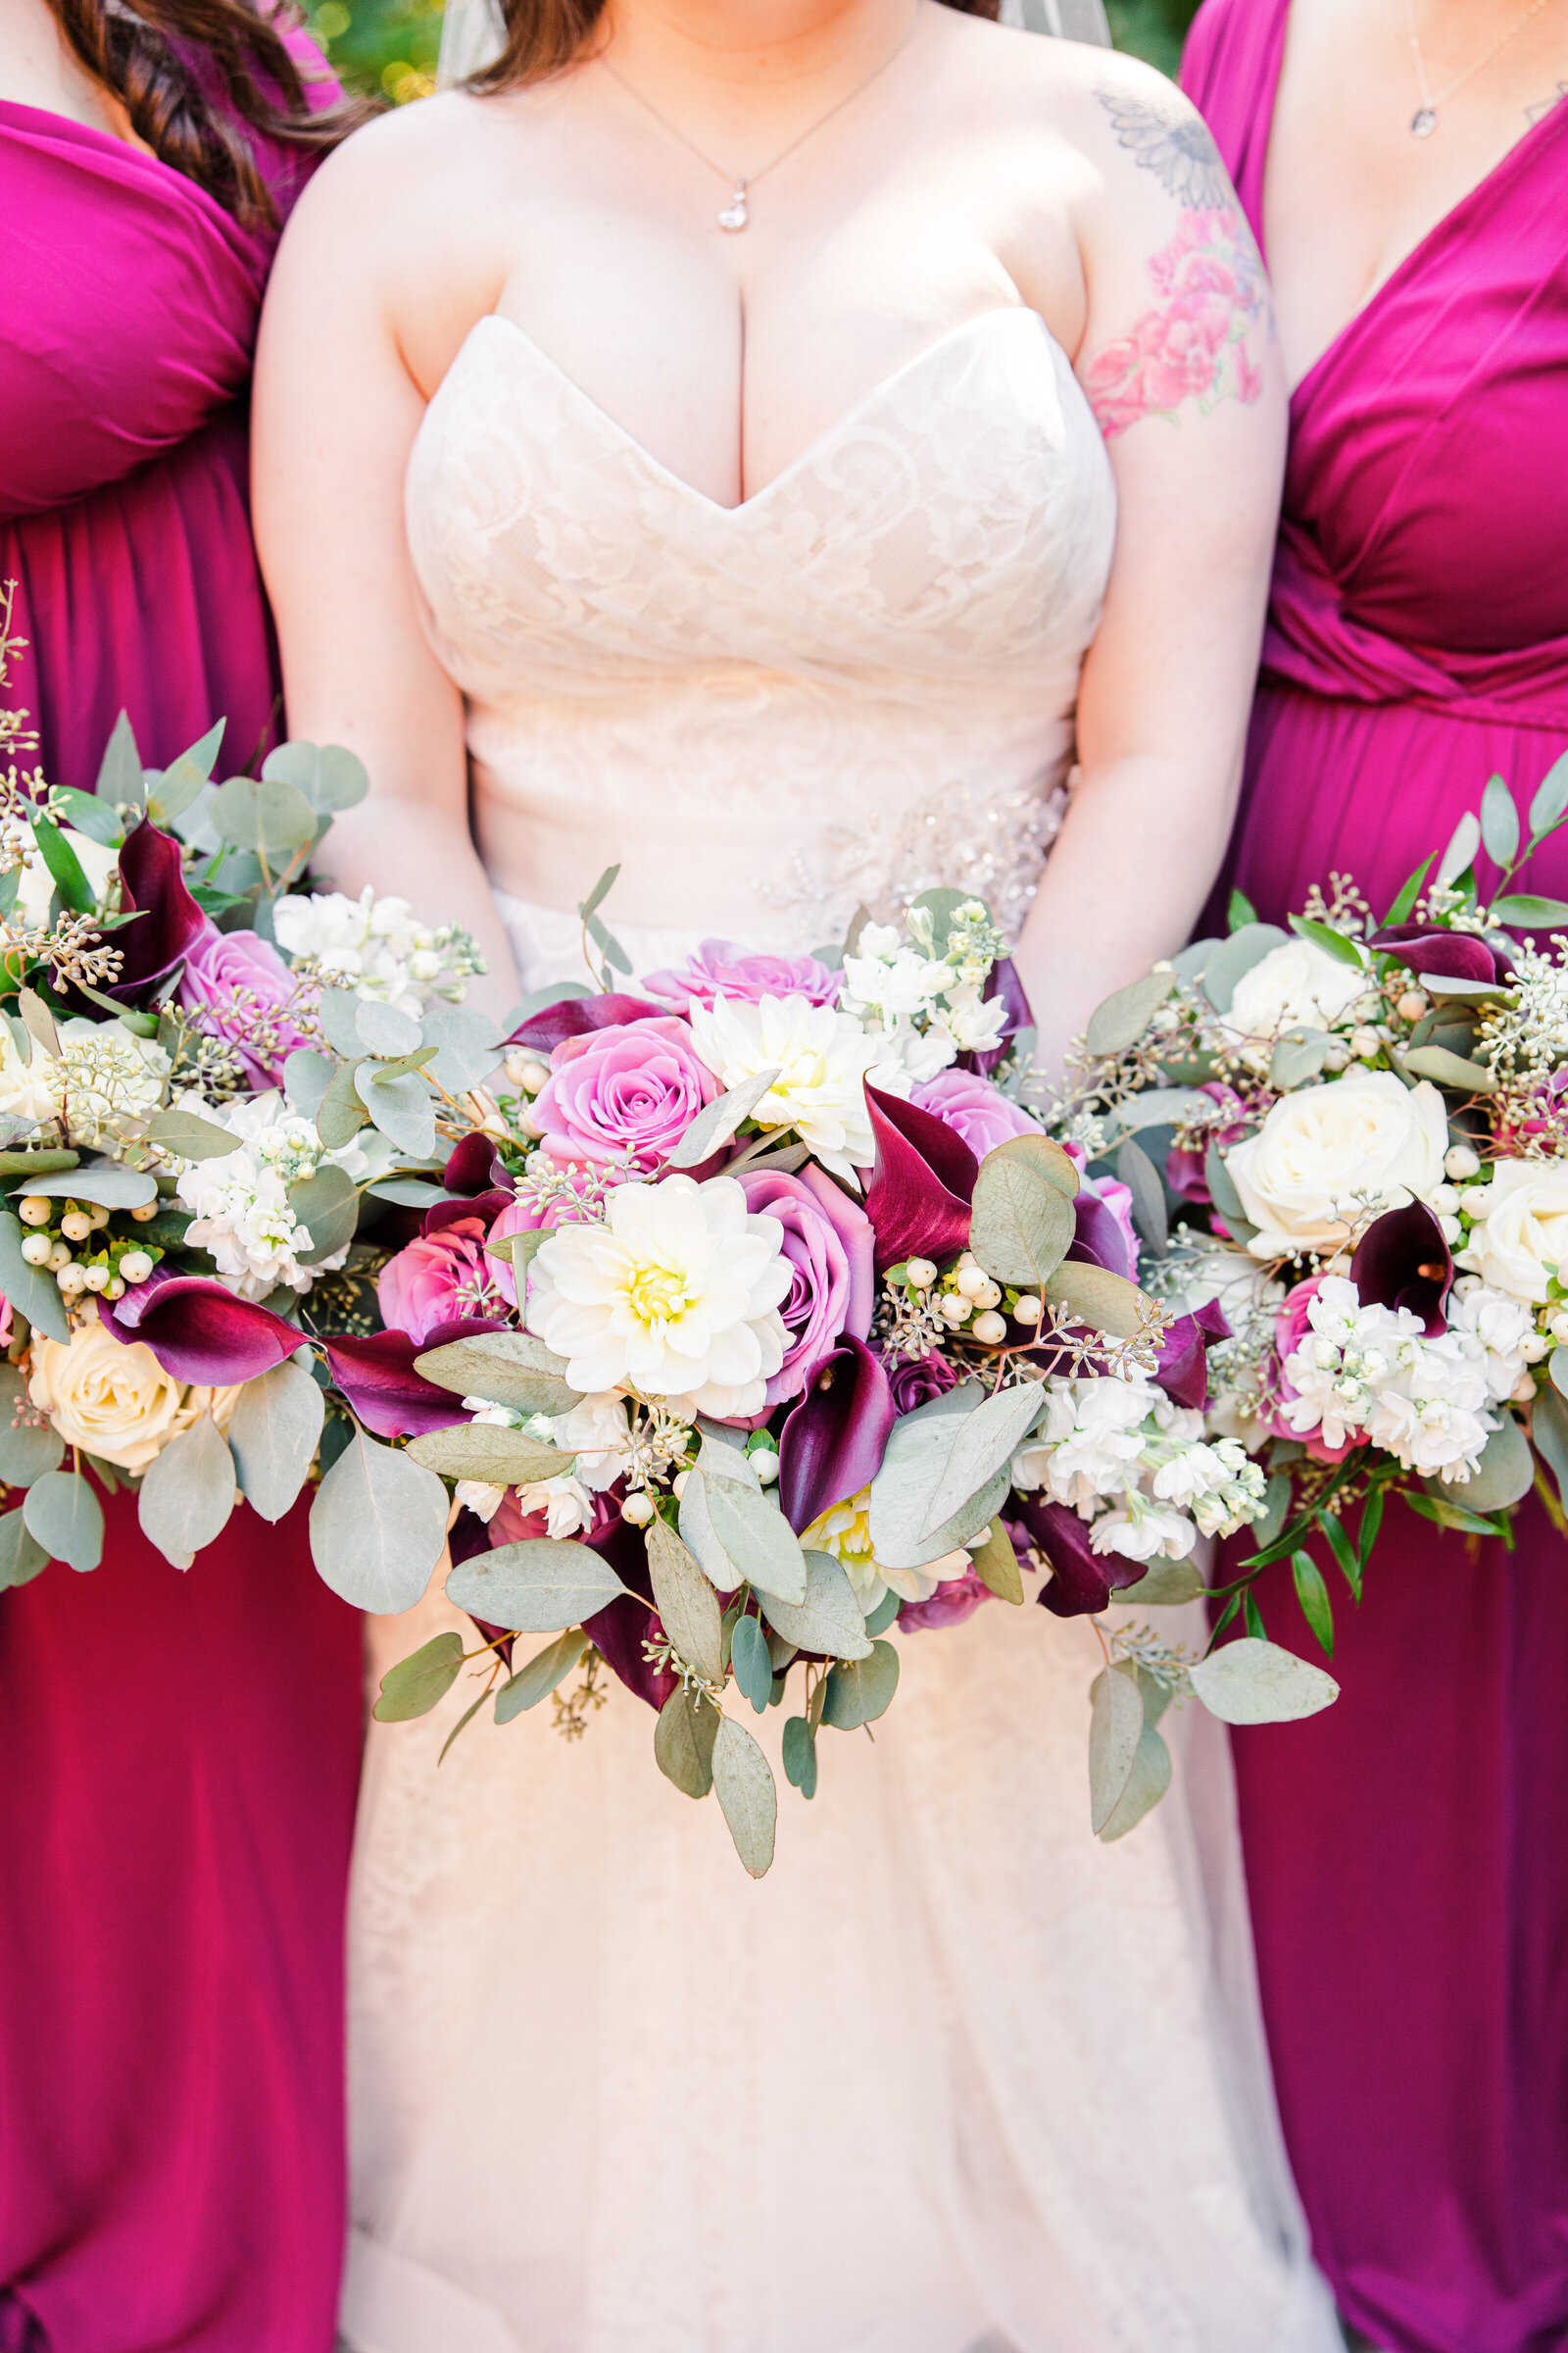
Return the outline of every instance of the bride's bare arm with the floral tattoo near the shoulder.
[[[1086,329],[1117,553],[1079,692],[1079,779],[1018,965],[1058,1068],[1112,988],[1190,936],[1237,805],[1286,447],[1269,294],[1187,101],[1131,59],[1077,125]]]

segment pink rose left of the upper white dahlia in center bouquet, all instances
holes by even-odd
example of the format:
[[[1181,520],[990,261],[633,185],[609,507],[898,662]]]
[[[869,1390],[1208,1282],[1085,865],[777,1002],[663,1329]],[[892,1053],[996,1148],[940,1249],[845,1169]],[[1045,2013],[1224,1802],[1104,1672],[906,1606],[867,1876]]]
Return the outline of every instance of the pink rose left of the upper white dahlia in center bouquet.
[[[562,1038],[534,1120],[552,1160],[623,1160],[651,1174],[719,1092],[672,1014]]]

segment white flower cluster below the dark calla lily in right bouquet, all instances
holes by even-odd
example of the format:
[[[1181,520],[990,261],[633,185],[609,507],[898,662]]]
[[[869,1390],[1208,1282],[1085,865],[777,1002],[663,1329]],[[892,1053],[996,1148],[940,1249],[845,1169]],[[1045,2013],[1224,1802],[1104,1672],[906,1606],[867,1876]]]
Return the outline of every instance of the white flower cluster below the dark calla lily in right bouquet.
[[[1328,1275],[1307,1308],[1312,1337],[1284,1365],[1295,1388],[1284,1417],[1300,1438],[1366,1440],[1403,1471],[1467,1480],[1497,1428],[1490,1407],[1523,1365],[1528,1318],[1507,1308],[1507,1299],[1469,1292],[1450,1329],[1429,1339],[1420,1315],[1361,1306],[1354,1282]]]

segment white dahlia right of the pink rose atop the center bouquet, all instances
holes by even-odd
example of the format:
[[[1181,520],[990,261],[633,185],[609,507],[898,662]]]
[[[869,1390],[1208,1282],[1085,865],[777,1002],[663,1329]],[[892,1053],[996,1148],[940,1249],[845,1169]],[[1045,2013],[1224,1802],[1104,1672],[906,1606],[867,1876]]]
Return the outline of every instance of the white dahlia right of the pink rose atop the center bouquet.
[[[865,1075],[879,1059],[875,1033],[806,998],[764,998],[762,1005],[715,998],[712,1007],[691,1005],[689,1021],[698,1056],[724,1089],[757,1071],[780,1073],[752,1111],[759,1127],[792,1122],[835,1176],[872,1165]]]

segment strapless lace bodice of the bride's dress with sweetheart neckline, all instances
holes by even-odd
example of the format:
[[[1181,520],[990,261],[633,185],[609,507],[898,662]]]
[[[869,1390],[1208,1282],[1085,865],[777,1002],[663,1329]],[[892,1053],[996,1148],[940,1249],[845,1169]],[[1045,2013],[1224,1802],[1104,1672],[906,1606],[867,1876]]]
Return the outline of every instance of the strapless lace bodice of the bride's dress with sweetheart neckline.
[[[954,327],[743,506],[691,489],[510,320],[407,478],[496,882],[811,946],[931,882],[1018,927],[1114,539],[1088,402],[1032,311]]]

